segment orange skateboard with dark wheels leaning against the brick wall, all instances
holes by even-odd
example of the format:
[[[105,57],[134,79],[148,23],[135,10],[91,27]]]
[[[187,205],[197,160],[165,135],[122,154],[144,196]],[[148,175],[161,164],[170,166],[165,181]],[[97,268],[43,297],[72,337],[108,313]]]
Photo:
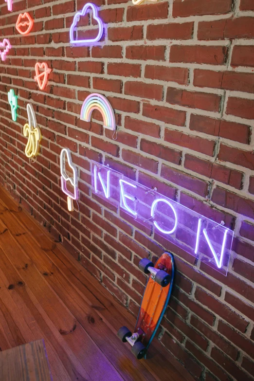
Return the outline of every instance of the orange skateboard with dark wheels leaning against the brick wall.
[[[134,333],[127,327],[121,327],[117,332],[123,343],[128,342],[131,345],[131,351],[138,360],[145,357],[165,313],[174,280],[174,258],[170,253],[164,253],[155,265],[144,258],[139,262],[139,268],[145,274],[150,273],[150,276],[145,286]]]

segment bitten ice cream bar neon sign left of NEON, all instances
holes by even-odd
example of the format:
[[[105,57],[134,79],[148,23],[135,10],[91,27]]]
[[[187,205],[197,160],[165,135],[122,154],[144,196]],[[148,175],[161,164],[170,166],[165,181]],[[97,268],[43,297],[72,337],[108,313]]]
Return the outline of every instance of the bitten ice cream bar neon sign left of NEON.
[[[73,176],[70,177],[66,171],[66,158],[68,160],[68,164],[73,171]],[[67,206],[70,212],[73,212],[73,200],[78,199],[78,179],[77,179],[77,168],[73,165],[71,151],[69,148],[63,148],[60,154],[60,172],[61,172],[61,185],[62,191],[67,195]],[[73,192],[71,192],[67,183],[71,185],[73,188]]]

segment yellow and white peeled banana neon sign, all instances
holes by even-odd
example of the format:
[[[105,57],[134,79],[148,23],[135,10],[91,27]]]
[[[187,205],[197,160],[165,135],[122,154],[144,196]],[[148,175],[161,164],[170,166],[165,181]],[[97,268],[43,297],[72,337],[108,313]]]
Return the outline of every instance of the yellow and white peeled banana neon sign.
[[[36,115],[33,106],[28,103],[26,106],[28,123],[23,127],[23,135],[27,137],[27,144],[25,147],[25,154],[28,158],[35,157],[39,151],[39,144],[41,140],[40,129],[37,126]]]

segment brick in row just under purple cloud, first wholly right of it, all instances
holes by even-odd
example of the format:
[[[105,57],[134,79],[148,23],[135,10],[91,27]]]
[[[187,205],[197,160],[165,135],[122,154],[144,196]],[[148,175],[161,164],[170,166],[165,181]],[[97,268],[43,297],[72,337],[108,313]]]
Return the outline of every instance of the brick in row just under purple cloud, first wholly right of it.
[[[155,61],[165,60],[165,47],[164,46],[127,46],[126,58],[128,59],[141,59],[146,61],[147,59],[153,59]]]

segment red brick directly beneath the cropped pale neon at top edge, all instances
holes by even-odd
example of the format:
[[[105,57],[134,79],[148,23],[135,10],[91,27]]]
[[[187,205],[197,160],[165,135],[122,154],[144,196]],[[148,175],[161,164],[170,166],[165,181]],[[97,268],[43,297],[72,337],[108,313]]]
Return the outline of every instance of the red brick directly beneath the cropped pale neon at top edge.
[[[167,1],[137,6],[131,6],[127,8],[127,21],[142,21],[156,18],[167,18],[168,15],[168,3]]]

